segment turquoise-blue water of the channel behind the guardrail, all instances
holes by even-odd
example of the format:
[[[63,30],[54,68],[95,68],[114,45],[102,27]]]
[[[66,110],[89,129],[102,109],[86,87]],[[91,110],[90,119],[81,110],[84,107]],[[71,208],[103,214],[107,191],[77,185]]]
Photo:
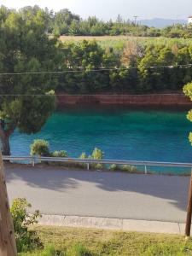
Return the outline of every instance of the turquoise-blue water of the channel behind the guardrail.
[[[35,138],[49,141],[51,150],[72,157],[102,148],[107,159],[192,162],[188,136],[192,123],[185,110],[129,108],[64,108],[36,135],[11,137],[11,153],[28,155]]]

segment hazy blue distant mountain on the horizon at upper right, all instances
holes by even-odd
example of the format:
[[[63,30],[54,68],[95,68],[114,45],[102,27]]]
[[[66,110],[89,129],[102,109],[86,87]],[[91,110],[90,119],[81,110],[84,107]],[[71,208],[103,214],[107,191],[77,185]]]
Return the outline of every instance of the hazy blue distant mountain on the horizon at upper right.
[[[169,20],[169,19],[161,19],[161,18],[154,18],[151,20],[139,20],[142,25],[146,26],[154,26],[154,27],[164,27],[164,26],[172,26],[175,23],[185,24],[187,20]]]

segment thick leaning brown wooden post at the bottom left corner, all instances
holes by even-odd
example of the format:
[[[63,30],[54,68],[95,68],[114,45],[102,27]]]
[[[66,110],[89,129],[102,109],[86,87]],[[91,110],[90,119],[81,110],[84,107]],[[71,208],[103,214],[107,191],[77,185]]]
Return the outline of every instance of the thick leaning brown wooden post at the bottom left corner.
[[[0,151],[0,255],[16,256],[14,224],[9,209],[9,199]]]

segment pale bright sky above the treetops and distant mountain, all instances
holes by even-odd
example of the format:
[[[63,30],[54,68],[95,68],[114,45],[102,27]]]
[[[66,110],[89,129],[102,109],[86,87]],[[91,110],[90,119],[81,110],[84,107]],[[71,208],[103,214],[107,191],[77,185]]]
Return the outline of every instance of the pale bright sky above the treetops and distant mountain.
[[[118,15],[130,20],[134,15],[138,20],[156,17],[177,20],[192,15],[192,0],[0,0],[0,4],[14,9],[35,4],[55,11],[67,8],[83,18],[96,15],[102,20],[115,20]]]

